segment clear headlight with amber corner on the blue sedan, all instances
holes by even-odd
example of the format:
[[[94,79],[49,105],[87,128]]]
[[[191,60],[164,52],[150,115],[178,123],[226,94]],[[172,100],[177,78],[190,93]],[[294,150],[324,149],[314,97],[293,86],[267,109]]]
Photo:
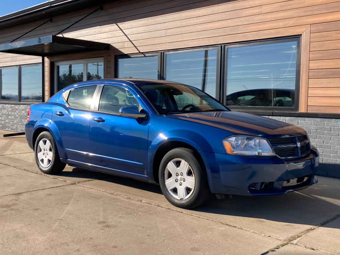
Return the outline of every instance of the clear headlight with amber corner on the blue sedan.
[[[227,154],[244,156],[275,155],[267,139],[250,136],[232,136],[223,140]]]

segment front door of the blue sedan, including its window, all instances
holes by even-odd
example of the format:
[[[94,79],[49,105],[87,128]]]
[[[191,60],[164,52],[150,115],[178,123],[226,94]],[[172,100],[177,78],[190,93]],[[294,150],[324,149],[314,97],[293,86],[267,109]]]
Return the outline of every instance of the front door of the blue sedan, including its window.
[[[102,87],[98,111],[92,112],[90,121],[92,164],[147,175],[150,114],[146,120],[119,115],[122,106],[145,108],[136,98],[135,91],[126,86]]]

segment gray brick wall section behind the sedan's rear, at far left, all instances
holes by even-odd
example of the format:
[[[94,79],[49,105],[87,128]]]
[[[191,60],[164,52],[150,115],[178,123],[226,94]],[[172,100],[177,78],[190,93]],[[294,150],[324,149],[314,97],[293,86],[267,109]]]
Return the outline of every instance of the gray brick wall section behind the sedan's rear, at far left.
[[[29,105],[0,104],[0,130],[24,132]]]

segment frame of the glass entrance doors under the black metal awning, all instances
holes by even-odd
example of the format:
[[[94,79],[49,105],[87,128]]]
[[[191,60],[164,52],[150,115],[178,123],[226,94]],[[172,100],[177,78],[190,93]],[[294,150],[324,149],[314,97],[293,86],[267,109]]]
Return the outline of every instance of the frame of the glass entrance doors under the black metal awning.
[[[57,66],[60,65],[76,65],[76,64],[83,64],[83,81],[87,81],[87,64],[95,63],[95,62],[103,62],[104,74],[105,74],[105,62],[104,57],[96,57],[96,58],[86,58],[80,60],[63,60],[63,61],[56,61],[54,62],[54,94],[58,92],[59,86],[57,84]],[[104,77],[103,77],[104,79]]]

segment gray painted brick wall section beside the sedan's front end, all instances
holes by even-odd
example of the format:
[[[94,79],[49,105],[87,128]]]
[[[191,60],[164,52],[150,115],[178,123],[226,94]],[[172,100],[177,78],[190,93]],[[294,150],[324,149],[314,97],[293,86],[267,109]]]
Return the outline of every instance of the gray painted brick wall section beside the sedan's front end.
[[[301,126],[320,152],[318,175],[340,178],[340,119],[264,116]]]

